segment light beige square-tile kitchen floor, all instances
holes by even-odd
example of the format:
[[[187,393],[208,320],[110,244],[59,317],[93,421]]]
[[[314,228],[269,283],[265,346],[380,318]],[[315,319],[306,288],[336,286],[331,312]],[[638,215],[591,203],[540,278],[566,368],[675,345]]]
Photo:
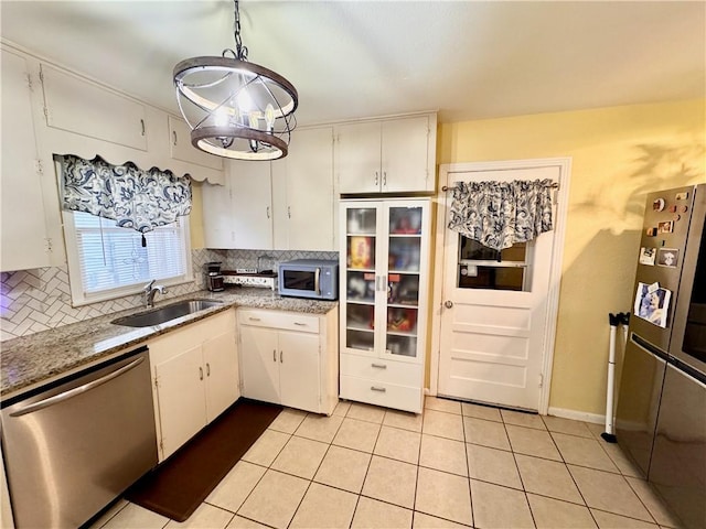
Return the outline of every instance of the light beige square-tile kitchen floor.
[[[120,500],[93,527],[677,527],[602,431],[434,397],[286,409],[185,522]]]

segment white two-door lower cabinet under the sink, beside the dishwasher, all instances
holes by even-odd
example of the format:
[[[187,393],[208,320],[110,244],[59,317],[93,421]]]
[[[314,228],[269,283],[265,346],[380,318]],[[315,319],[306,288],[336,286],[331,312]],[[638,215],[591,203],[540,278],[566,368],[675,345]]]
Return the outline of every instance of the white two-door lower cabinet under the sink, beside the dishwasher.
[[[240,395],[235,310],[148,344],[160,462]]]

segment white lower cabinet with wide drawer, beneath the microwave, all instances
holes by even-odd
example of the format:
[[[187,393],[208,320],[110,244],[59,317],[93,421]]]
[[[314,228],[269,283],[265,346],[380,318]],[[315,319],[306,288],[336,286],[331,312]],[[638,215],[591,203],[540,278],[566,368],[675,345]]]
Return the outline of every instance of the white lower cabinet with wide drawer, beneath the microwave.
[[[338,403],[338,310],[238,310],[243,396],[330,415]]]

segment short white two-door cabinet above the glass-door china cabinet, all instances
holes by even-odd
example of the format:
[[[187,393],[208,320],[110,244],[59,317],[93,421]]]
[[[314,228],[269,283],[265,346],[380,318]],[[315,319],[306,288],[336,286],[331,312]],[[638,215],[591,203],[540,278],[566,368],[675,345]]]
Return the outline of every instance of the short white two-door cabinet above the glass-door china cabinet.
[[[339,193],[434,193],[435,114],[336,126]]]

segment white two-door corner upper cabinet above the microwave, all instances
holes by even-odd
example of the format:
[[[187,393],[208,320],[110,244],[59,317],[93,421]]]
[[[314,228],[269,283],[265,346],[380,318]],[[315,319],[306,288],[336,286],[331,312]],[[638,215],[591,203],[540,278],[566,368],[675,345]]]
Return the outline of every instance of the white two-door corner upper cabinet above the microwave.
[[[204,185],[207,248],[335,251],[333,128],[295,131],[272,162],[226,162],[226,186]]]

